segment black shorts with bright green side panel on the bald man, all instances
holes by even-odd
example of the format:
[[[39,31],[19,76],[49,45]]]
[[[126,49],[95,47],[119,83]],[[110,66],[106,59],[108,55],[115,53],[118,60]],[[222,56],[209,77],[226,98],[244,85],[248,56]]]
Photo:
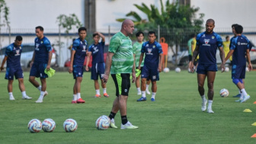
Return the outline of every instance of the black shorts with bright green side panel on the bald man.
[[[121,73],[121,74],[111,74],[114,84],[116,86],[116,95],[128,96],[130,90],[130,74]]]

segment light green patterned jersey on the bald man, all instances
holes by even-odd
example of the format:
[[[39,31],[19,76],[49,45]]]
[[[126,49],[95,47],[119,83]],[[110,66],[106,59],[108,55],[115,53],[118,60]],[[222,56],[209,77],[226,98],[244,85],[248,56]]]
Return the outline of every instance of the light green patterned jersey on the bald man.
[[[133,46],[130,37],[123,33],[115,34],[110,40],[108,51],[114,53],[110,74],[131,73],[133,69]]]

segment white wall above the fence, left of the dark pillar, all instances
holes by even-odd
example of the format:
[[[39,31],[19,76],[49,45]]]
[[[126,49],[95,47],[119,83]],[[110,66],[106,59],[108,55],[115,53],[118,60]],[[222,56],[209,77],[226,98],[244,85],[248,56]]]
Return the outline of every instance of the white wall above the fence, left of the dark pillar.
[[[11,28],[34,28],[38,25],[58,28],[59,14],[73,14],[84,23],[84,0],[5,0],[10,8]]]

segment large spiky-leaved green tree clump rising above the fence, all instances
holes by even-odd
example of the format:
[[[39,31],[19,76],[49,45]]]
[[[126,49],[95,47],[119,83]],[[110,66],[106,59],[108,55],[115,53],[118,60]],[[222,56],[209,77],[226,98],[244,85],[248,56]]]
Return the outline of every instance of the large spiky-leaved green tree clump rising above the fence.
[[[202,30],[203,16],[199,14],[196,17],[197,11],[200,8],[190,7],[190,5],[180,5],[180,2],[174,1],[165,3],[165,7],[161,2],[161,13],[155,5],[150,5],[150,8],[142,3],[136,5],[140,11],[147,15],[147,19],[142,19],[135,11],[130,11],[126,17],[132,17],[136,30],[157,30],[158,25],[161,29],[161,37],[165,37],[166,42],[171,46],[174,54],[177,54],[178,47],[189,39],[190,34],[197,34]],[[123,21],[126,18],[119,18],[117,21]],[[186,33],[185,33],[186,32]],[[176,50],[173,49],[175,45]]]

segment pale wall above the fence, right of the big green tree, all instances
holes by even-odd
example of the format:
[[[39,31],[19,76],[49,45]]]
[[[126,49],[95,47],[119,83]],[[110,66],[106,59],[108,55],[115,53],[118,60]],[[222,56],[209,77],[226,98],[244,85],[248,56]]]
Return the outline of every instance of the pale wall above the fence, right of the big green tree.
[[[191,6],[200,7],[204,21],[213,18],[218,27],[241,24],[243,27],[256,27],[255,0],[190,0]]]

